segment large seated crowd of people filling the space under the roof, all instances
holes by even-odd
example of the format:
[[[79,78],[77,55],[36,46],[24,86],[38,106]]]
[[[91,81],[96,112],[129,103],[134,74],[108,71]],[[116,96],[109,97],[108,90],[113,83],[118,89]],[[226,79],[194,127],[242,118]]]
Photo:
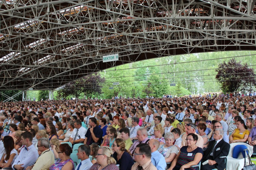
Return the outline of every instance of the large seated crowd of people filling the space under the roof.
[[[2,102],[0,167],[195,170],[201,163],[203,170],[225,169],[220,157],[231,143],[246,142],[256,153],[255,100],[254,92]],[[81,163],[75,166],[76,144]]]

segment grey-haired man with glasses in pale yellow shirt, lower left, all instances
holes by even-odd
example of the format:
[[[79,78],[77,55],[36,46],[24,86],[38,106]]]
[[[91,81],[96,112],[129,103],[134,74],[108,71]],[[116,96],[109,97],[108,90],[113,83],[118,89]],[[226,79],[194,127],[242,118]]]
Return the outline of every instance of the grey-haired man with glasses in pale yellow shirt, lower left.
[[[28,166],[26,170],[34,169],[49,169],[54,163],[54,154],[49,149],[50,141],[47,138],[38,139],[37,148],[38,152],[41,152],[37,158],[35,165]]]

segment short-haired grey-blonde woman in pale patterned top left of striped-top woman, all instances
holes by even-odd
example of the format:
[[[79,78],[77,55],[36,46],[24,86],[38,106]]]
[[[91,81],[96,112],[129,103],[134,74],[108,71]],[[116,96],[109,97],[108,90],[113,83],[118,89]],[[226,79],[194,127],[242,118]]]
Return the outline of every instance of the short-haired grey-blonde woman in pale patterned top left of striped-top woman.
[[[164,135],[165,145],[160,145],[158,152],[163,155],[166,163],[170,163],[178,154],[178,148],[173,145],[174,136],[172,132],[167,132]],[[170,164],[169,164],[170,165]],[[168,166],[168,164],[167,164]]]

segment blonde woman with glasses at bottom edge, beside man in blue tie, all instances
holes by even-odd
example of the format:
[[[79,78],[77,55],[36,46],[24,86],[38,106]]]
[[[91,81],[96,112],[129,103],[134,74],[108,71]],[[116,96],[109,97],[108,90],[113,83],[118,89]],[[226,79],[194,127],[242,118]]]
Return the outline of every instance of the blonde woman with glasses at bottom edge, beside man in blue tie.
[[[119,170],[116,166],[116,160],[112,156],[113,151],[108,146],[100,147],[96,155],[97,162],[93,164],[90,170]]]

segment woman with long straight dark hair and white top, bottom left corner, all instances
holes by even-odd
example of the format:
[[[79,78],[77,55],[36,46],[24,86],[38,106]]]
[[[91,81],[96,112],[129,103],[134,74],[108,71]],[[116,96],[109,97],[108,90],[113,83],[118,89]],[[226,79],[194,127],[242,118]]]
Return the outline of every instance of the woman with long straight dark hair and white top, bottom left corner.
[[[3,139],[5,153],[0,162],[1,168],[11,167],[14,160],[18,157],[18,152],[14,148],[14,140],[11,136],[5,136]]]

